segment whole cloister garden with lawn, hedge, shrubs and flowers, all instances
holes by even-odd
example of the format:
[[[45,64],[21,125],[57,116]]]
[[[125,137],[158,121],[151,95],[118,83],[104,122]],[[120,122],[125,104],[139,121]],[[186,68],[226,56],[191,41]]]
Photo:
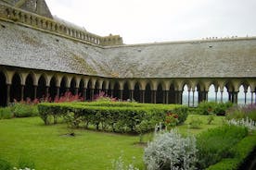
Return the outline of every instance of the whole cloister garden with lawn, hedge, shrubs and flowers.
[[[70,95],[13,103],[0,108],[0,169],[253,169],[255,121],[256,104],[188,108]]]

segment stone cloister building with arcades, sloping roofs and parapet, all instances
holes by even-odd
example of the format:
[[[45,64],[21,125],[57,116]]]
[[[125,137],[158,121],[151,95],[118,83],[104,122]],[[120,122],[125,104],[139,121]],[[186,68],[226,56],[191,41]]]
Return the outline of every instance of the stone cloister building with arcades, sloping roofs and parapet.
[[[256,96],[256,37],[145,44],[101,37],[55,18],[44,0],[0,0],[0,105],[99,91],[141,103],[207,101],[211,85],[237,103]],[[250,90],[250,91],[249,91]],[[195,93],[198,93],[196,99]]]

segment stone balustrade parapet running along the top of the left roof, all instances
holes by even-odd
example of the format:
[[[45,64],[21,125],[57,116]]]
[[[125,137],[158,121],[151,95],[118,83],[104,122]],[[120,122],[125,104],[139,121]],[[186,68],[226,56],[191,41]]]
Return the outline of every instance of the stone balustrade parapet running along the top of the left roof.
[[[54,19],[45,18],[13,6],[4,6],[0,4],[0,19],[17,22],[36,30],[47,30],[60,36],[70,37],[72,39],[100,46],[122,44],[122,38],[119,35],[101,37],[86,30],[72,28],[59,23]]]

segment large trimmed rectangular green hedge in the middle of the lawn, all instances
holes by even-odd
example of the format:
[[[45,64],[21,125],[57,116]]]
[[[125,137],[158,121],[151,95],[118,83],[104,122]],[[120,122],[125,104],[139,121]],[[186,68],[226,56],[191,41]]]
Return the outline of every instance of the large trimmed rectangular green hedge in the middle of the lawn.
[[[143,128],[147,132],[163,122],[166,113],[179,115],[179,124],[187,117],[187,107],[182,105],[143,104],[143,103],[40,103],[39,115],[45,125],[51,123],[50,117],[57,123],[58,117],[73,113],[73,127],[111,130],[115,132],[141,133]]]

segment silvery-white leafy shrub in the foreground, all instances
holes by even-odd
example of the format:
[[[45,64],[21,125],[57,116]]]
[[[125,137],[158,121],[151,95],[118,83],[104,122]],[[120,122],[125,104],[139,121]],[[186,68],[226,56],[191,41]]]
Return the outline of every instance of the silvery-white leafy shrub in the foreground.
[[[156,169],[195,169],[196,139],[183,138],[176,130],[156,136],[148,143],[144,162],[148,170]]]

